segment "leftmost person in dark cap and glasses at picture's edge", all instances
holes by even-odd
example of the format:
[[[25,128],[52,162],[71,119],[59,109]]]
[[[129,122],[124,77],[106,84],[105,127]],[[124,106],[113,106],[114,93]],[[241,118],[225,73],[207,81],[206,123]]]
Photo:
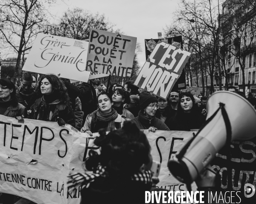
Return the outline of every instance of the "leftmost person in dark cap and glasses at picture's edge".
[[[27,109],[18,103],[15,85],[10,79],[0,79],[0,115],[18,120],[27,116]]]

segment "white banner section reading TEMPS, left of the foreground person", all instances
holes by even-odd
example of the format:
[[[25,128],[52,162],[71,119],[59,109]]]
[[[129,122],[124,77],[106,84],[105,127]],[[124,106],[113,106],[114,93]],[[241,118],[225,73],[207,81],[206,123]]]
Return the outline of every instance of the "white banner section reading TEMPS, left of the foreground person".
[[[79,204],[81,195],[67,190],[67,176],[84,172],[89,135],[70,125],[24,121],[0,115],[0,193],[37,204]]]

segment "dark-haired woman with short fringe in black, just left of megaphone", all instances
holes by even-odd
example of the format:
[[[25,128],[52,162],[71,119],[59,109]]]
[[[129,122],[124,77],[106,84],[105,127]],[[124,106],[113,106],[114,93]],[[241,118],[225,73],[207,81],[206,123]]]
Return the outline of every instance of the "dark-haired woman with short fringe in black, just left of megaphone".
[[[170,130],[191,131],[200,129],[205,117],[200,113],[192,94],[184,92],[180,94],[177,113],[166,124]]]

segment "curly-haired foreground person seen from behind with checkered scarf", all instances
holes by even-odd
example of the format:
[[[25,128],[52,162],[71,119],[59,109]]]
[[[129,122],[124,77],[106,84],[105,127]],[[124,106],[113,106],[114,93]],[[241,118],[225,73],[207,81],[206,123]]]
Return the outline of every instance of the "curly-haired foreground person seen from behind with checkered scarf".
[[[99,131],[94,144],[100,154],[89,151],[85,173],[72,173],[69,189],[81,186],[81,204],[141,204],[152,187],[151,147],[137,126],[125,121],[119,130]]]

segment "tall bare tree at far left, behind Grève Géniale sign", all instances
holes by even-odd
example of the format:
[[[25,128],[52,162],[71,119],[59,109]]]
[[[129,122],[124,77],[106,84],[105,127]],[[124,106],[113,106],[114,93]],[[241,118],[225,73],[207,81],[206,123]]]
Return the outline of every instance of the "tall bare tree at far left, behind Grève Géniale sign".
[[[17,53],[15,77],[19,78],[22,54],[32,47],[36,35],[44,31],[47,23],[45,4],[54,0],[1,0],[0,33],[3,42]]]

